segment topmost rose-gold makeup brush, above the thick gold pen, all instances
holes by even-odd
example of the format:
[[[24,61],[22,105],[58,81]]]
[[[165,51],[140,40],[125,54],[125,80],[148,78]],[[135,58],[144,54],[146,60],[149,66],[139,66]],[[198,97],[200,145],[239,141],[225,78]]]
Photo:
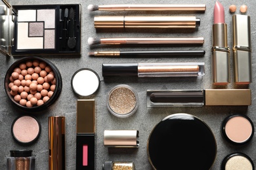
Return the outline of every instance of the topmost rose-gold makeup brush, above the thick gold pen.
[[[206,5],[89,5],[87,7],[88,10],[95,11],[95,10],[108,10],[108,11],[121,11],[121,10],[180,10],[180,11],[205,11]]]

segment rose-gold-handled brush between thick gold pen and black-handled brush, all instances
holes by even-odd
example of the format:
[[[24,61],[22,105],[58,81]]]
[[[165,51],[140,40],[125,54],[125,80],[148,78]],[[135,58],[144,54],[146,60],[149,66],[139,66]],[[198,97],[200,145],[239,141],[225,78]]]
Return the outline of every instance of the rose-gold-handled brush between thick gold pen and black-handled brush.
[[[101,38],[89,37],[88,44],[203,44],[203,37],[196,38]]]

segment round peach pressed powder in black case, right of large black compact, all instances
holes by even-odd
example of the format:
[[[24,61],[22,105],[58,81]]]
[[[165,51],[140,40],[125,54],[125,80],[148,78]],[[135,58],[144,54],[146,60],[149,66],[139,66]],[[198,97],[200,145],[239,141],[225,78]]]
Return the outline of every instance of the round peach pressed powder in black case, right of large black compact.
[[[254,135],[253,122],[244,114],[230,114],[223,120],[221,133],[228,143],[234,145],[249,143]]]

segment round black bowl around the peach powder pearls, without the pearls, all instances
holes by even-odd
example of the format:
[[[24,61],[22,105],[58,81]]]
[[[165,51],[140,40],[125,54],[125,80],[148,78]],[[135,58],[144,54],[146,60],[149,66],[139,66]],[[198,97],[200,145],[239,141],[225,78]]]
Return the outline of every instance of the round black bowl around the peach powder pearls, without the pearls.
[[[54,75],[54,79],[53,79],[54,82],[49,82],[49,86],[51,86],[53,84],[55,86],[54,86],[54,90],[53,90],[51,97],[49,97],[49,99],[47,101],[45,101],[42,105],[33,105],[33,107],[27,107],[26,105],[21,105],[20,103],[18,103],[17,101],[14,100],[14,95],[11,95],[11,88],[9,87],[9,84],[11,82],[10,78],[12,76],[12,73],[14,72],[14,69],[19,67],[20,64],[24,64],[26,62],[33,62],[33,61],[39,61],[39,63],[45,63],[47,66],[49,66],[48,68],[51,69],[50,72]],[[32,66],[32,67],[35,67],[35,66]],[[30,68],[30,67],[26,67],[26,68]],[[43,71],[43,69],[41,69],[41,71]],[[47,73],[47,75],[50,75],[50,72]],[[25,79],[25,76],[24,76],[24,79]],[[32,81],[32,79],[31,79],[31,81]],[[45,82],[45,80],[44,80],[44,82]],[[50,90],[50,88],[49,88],[49,90]],[[5,75],[5,92],[7,93],[9,99],[11,99],[12,103],[16,107],[18,107],[19,109],[26,111],[26,112],[41,111],[41,110],[45,110],[45,109],[51,107],[51,105],[53,105],[53,103],[56,101],[56,99],[58,99],[61,90],[62,90],[62,77],[60,75],[60,71],[58,71],[58,68],[51,61],[49,61],[49,59],[45,59],[45,58],[41,58],[41,57],[37,57],[37,56],[33,56],[33,57],[29,56],[29,57],[24,57],[24,58],[18,59],[17,61],[12,63],[12,65],[9,67],[9,69],[7,70],[7,73]],[[28,95],[30,94],[30,92],[31,91],[28,92]],[[47,95],[49,96],[48,92],[47,92]],[[43,99],[43,95],[42,95],[42,99]],[[39,101],[39,99],[38,99],[38,101]]]

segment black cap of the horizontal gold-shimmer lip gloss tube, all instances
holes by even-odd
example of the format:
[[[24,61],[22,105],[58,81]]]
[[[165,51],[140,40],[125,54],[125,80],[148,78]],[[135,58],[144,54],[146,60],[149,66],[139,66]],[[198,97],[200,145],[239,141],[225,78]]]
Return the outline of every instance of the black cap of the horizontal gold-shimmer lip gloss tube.
[[[138,76],[138,63],[103,63],[102,76]]]

